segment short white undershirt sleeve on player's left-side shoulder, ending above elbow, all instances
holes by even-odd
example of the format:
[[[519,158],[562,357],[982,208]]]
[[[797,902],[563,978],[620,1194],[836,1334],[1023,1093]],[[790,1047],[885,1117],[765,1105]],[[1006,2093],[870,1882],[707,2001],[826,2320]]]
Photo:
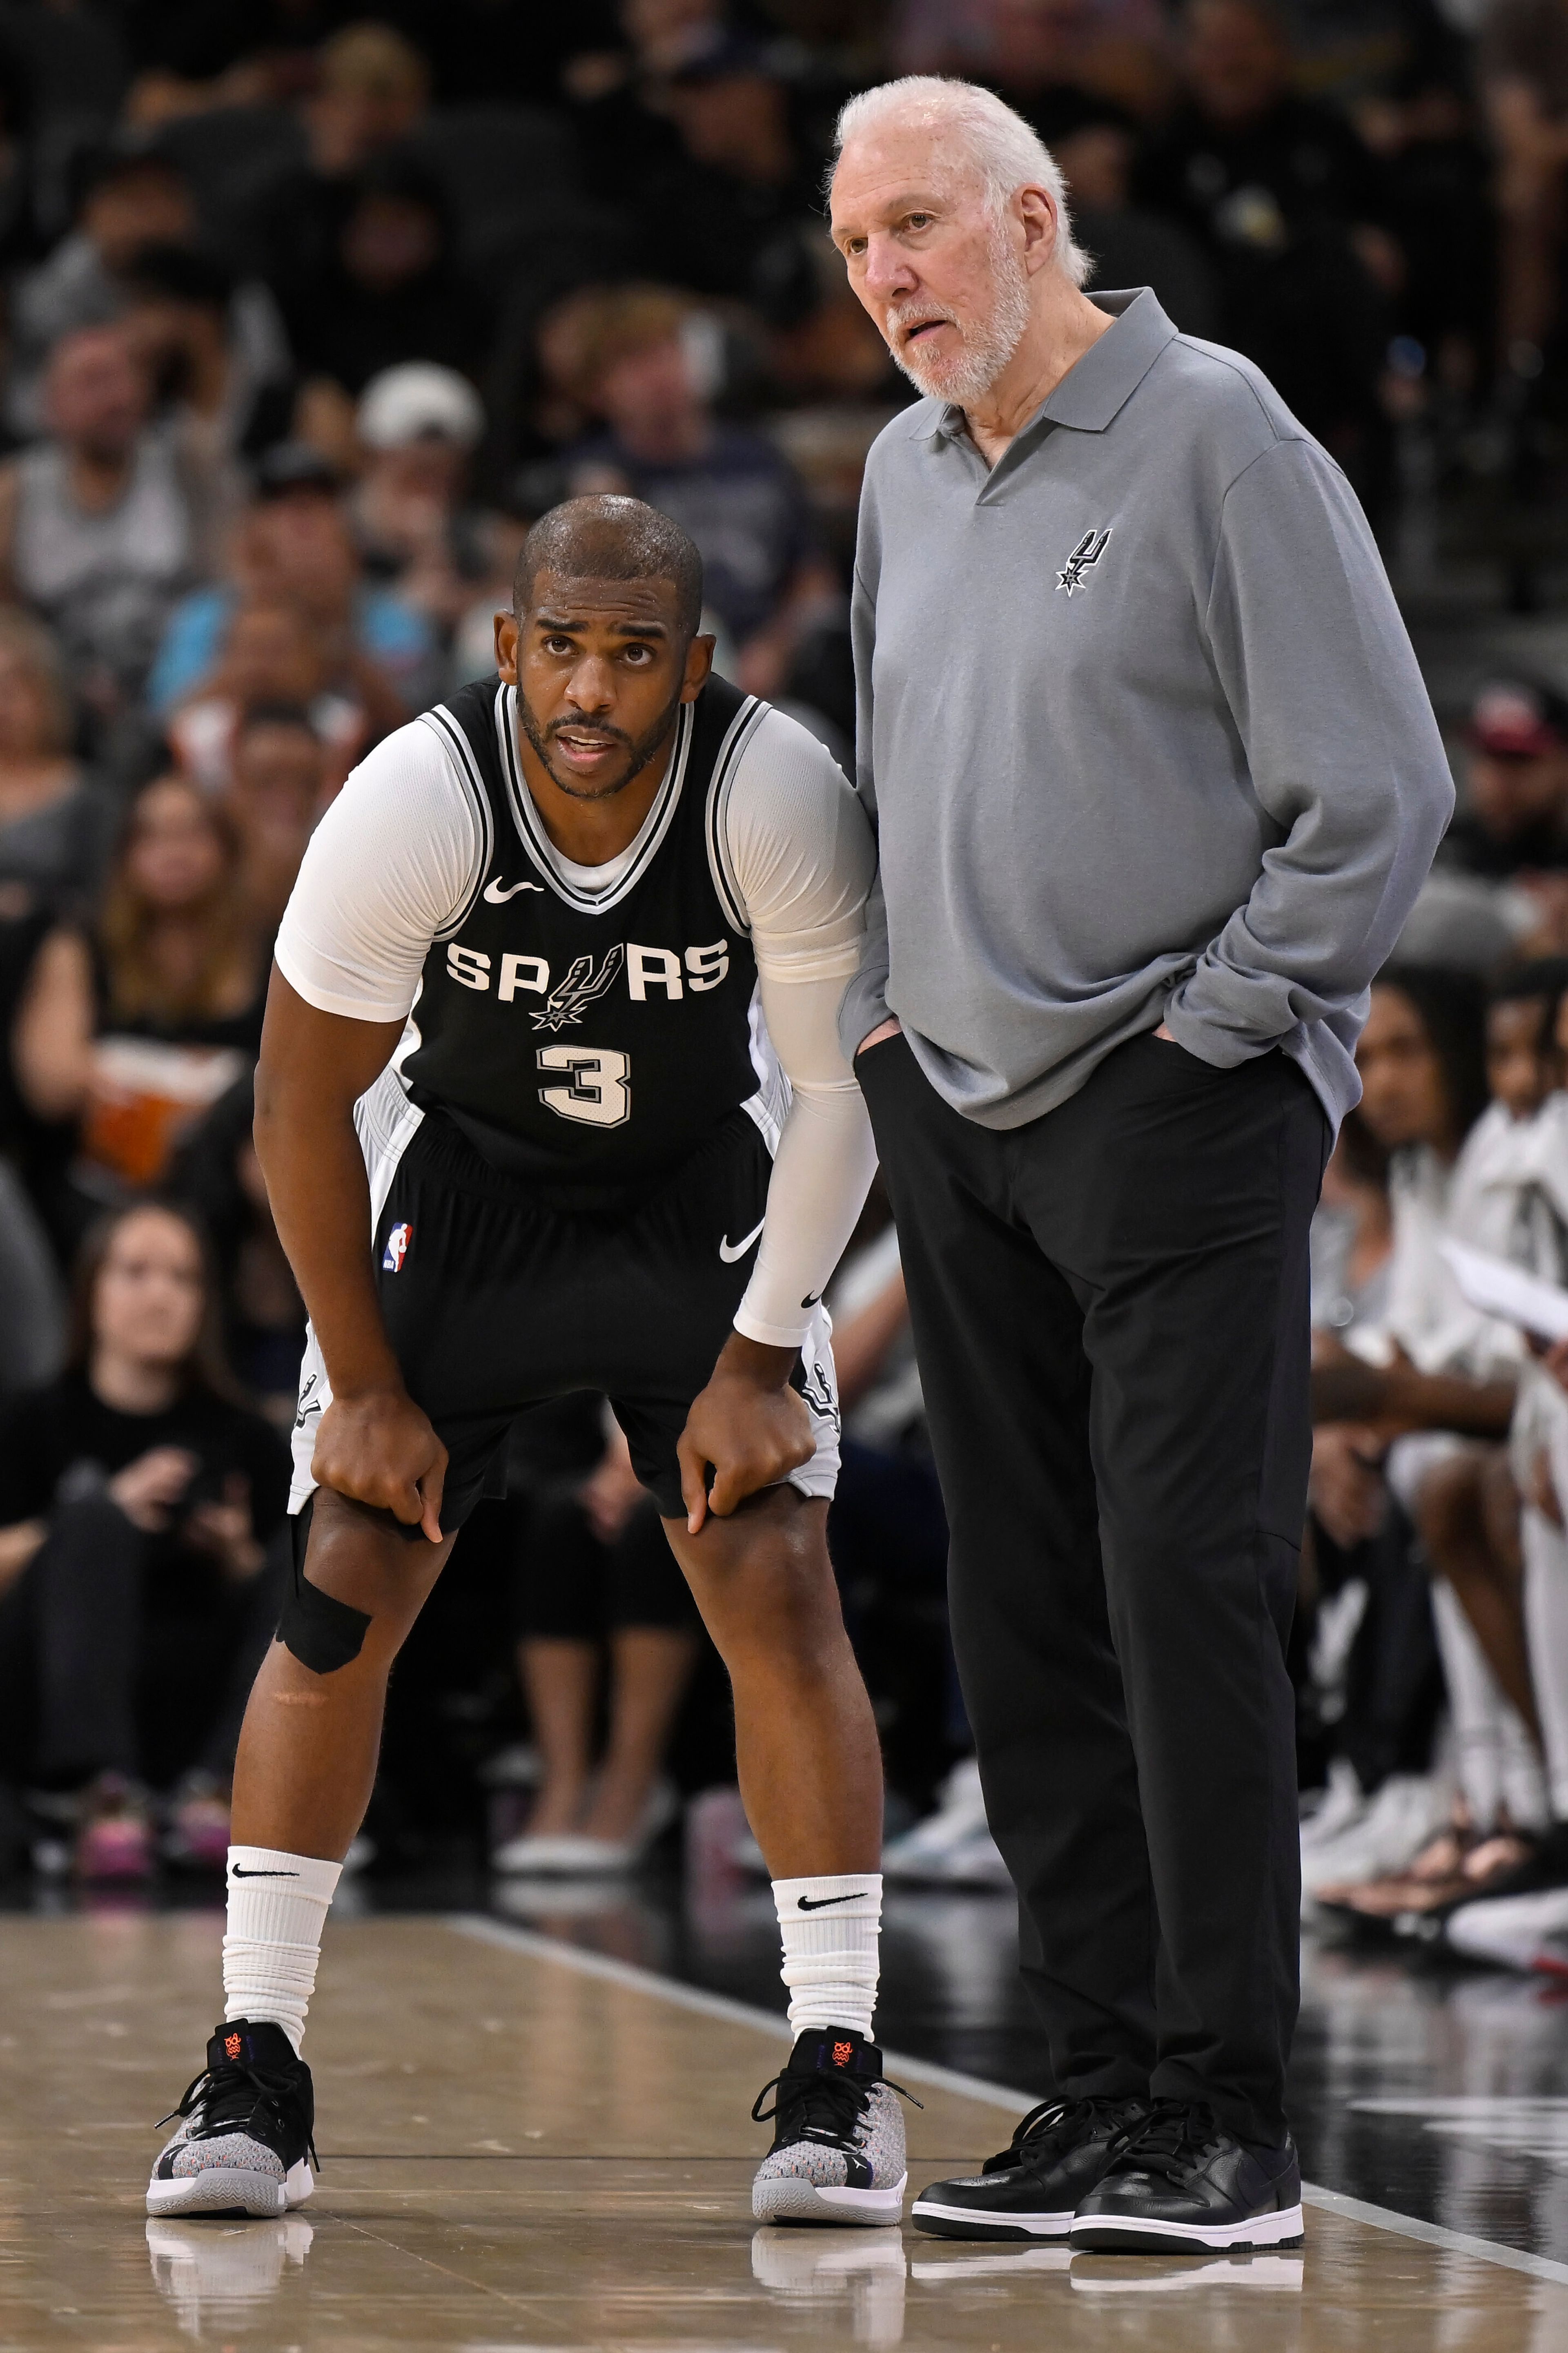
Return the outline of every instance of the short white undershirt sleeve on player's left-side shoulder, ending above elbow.
[[[440,736],[411,720],[367,753],[310,835],[277,969],[317,1012],[402,1021],[482,861],[477,800]]]

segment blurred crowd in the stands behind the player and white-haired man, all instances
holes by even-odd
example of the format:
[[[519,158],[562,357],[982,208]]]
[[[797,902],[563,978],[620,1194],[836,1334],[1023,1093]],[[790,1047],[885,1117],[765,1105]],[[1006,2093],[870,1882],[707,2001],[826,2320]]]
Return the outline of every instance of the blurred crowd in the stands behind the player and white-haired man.
[[[491,668],[529,522],[672,513],[719,668],[849,762],[910,391],[823,172],[905,71],[1027,115],[1093,282],[1255,358],[1396,576],[1420,508],[1467,593],[1552,600],[1568,0],[0,0],[0,1864],[221,1861],[303,1334],[249,1144],[270,939],[355,760]],[[1439,692],[1462,814],[1319,1219],[1305,1842],[1368,1920],[1568,1880],[1561,1391],[1441,1257],[1568,1275],[1561,689]],[[879,1195],[832,1306],[891,1871],[994,1885]],[[616,1871],[729,1779],[625,1442],[564,1400],[400,1671],[362,1854]]]

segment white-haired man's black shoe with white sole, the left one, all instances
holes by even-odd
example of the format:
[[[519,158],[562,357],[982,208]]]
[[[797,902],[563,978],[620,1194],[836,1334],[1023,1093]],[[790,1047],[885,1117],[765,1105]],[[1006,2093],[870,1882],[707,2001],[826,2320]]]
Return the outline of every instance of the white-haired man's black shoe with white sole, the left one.
[[[1079,2200],[1143,2113],[1131,2099],[1044,2099],[978,2174],[922,2191],[910,2221],[933,2238],[1067,2238]]]

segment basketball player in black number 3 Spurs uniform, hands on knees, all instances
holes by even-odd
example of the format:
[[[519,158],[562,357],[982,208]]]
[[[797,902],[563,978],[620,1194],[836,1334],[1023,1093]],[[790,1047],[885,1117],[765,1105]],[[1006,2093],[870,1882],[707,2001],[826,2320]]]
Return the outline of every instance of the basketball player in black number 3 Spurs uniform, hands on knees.
[[[235,1767],[226,2012],[155,2214],[310,2195],[299,2042],[388,1668],[515,1417],[578,1388],[611,1398],[724,1657],[776,1873],[797,2040],[755,2212],[900,2214],[818,1304],[875,1165],[837,1042],[872,845],[830,755],[712,675],[701,591],[654,508],[557,506],[498,678],[360,765],[289,901],[256,1146],[310,1311],[296,1567]]]

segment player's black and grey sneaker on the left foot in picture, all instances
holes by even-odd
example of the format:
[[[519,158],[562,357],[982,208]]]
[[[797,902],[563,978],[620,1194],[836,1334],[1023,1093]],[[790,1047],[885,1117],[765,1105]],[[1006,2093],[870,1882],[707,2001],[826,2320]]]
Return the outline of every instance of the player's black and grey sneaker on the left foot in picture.
[[[287,2214],[315,2188],[310,2068],[270,2019],[219,2026],[172,2115],[181,2127],[153,2167],[148,2214]]]

